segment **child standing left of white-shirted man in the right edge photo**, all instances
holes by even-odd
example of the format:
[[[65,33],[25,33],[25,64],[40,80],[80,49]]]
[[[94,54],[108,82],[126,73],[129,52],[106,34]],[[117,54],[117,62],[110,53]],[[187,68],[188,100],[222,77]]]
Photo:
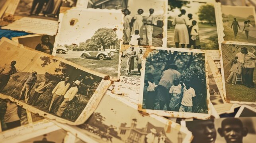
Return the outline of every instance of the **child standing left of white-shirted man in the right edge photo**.
[[[235,81],[236,81],[236,75],[238,73],[238,63],[237,63],[237,59],[238,57],[236,56],[235,59],[232,61],[231,63],[231,69],[229,70],[231,73],[229,74],[229,77],[226,81],[226,83],[230,83],[231,79],[231,83],[232,85],[235,84]]]

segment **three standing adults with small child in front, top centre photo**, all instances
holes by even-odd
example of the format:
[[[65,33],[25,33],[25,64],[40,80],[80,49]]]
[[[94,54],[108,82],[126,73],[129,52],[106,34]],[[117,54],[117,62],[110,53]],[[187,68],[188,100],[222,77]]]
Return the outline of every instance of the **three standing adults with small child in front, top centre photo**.
[[[141,45],[141,40],[143,40],[143,25],[146,27],[146,45],[151,46],[152,45],[152,34],[154,26],[157,25],[156,23],[156,17],[153,15],[154,9],[149,9],[149,17],[147,18],[147,22],[143,23],[143,10],[139,9],[138,14],[134,15],[134,17],[131,17],[130,11],[128,9],[123,10],[124,17],[124,23],[123,23],[123,43],[124,44],[130,44],[133,46]]]

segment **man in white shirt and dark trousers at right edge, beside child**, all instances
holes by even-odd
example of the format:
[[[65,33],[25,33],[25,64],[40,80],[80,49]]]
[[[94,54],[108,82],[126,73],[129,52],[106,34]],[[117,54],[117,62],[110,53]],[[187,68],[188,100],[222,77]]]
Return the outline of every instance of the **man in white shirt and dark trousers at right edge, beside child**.
[[[249,52],[246,47],[242,47],[241,52],[244,54],[244,69],[242,70],[243,84],[249,88],[254,88],[253,71],[255,68],[256,56],[252,52]]]

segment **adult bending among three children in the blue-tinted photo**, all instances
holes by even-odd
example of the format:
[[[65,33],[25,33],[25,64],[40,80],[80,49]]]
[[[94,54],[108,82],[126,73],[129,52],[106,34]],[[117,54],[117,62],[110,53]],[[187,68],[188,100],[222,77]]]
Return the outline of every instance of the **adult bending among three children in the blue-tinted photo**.
[[[154,109],[158,100],[160,110],[164,110],[166,105],[168,111],[192,112],[195,90],[191,87],[190,79],[185,79],[184,83],[180,81],[181,74],[177,70],[178,66],[168,65],[167,70],[164,70],[158,79],[158,85],[154,83],[152,73],[147,73],[148,80],[145,81],[147,109]]]

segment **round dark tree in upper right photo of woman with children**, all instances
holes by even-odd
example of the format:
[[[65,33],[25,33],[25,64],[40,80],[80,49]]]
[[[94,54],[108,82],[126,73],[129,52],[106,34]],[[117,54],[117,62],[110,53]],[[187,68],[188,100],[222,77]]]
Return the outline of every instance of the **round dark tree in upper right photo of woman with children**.
[[[213,5],[207,4],[207,5],[200,6],[198,13],[199,13],[198,14],[199,20],[206,20],[211,25],[212,25],[212,22],[216,24],[215,11],[214,11]]]

